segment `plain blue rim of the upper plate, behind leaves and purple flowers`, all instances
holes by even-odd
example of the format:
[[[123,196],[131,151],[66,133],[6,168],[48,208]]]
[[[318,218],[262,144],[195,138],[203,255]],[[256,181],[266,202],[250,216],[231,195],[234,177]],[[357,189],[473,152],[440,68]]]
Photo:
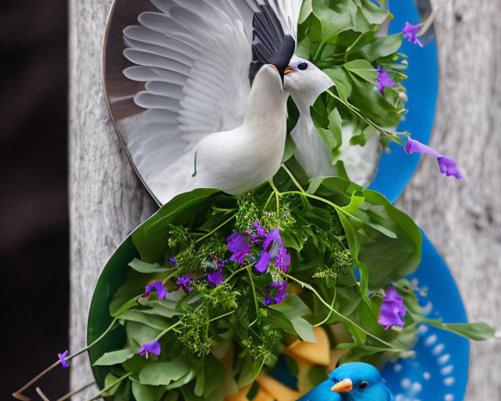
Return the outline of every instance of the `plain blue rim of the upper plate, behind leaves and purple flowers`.
[[[427,1],[415,0],[420,12],[425,10]],[[412,0],[389,0],[390,12],[394,19],[390,23],[389,34],[402,32],[405,23],[418,24],[420,16]],[[426,16],[426,15],[425,15]],[[437,47],[433,39],[433,31],[429,31],[429,42],[420,48],[404,39],[400,52],[408,56],[408,79],[404,82],[407,88],[408,102],[405,107],[409,112],[400,126],[400,131],[409,131],[412,138],[428,144],[431,128],[435,118],[435,106],[438,92],[438,60]],[[406,154],[400,145],[392,143],[390,153],[383,153],[379,162],[379,170],[370,189],[385,195],[390,202],[400,196],[419,162],[419,155]],[[437,167],[438,172],[438,167]]]

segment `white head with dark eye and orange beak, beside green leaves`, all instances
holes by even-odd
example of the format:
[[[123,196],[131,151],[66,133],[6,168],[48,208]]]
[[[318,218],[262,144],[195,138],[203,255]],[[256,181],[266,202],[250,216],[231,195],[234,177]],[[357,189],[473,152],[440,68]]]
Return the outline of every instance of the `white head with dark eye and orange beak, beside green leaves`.
[[[325,72],[296,55],[285,71],[284,89],[291,94],[300,111],[309,110],[315,100],[332,86],[334,81]]]

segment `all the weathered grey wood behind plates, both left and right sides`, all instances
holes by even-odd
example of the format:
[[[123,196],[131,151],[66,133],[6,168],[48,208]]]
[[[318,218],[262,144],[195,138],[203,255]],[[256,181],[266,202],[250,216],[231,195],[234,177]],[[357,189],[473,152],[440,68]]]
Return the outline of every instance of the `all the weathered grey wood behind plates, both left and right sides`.
[[[85,343],[92,292],[118,244],[154,211],[114,132],[102,88],[112,0],[70,0],[71,348]],[[470,320],[501,328],[501,0],[434,0],[440,90],[431,145],[465,179],[422,160],[397,205],[450,267]],[[473,343],[468,400],[501,399],[501,343]],[[85,356],[74,388],[92,381]],[[74,399],[84,399],[83,396]],[[429,400],[431,401],[431,400]]]

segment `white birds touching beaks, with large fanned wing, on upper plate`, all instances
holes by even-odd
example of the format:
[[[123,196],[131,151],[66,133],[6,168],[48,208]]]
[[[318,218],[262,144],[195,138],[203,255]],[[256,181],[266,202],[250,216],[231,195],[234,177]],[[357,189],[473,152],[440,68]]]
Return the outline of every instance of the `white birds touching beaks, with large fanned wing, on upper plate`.
[[[133,63],[124,74],[145,82],[134,101],[147,109],[123,139],[159,203],[197,187],[238,194],[271,178],[289,93],[301,111],[296,157],[310,176],[331,175],[309,108],[334,83],[294,56],[302,0],[150,1],[159,11],[123,32]]]

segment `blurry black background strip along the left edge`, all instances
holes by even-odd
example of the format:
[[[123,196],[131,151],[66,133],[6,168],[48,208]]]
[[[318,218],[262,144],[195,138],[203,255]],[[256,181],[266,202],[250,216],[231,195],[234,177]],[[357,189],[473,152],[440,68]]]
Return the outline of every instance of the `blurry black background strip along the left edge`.
[[[68,347],[67,36],[66,0],[2,5],[0,399]],[[68,391],[68,373],[41,381],[50,399]]]

